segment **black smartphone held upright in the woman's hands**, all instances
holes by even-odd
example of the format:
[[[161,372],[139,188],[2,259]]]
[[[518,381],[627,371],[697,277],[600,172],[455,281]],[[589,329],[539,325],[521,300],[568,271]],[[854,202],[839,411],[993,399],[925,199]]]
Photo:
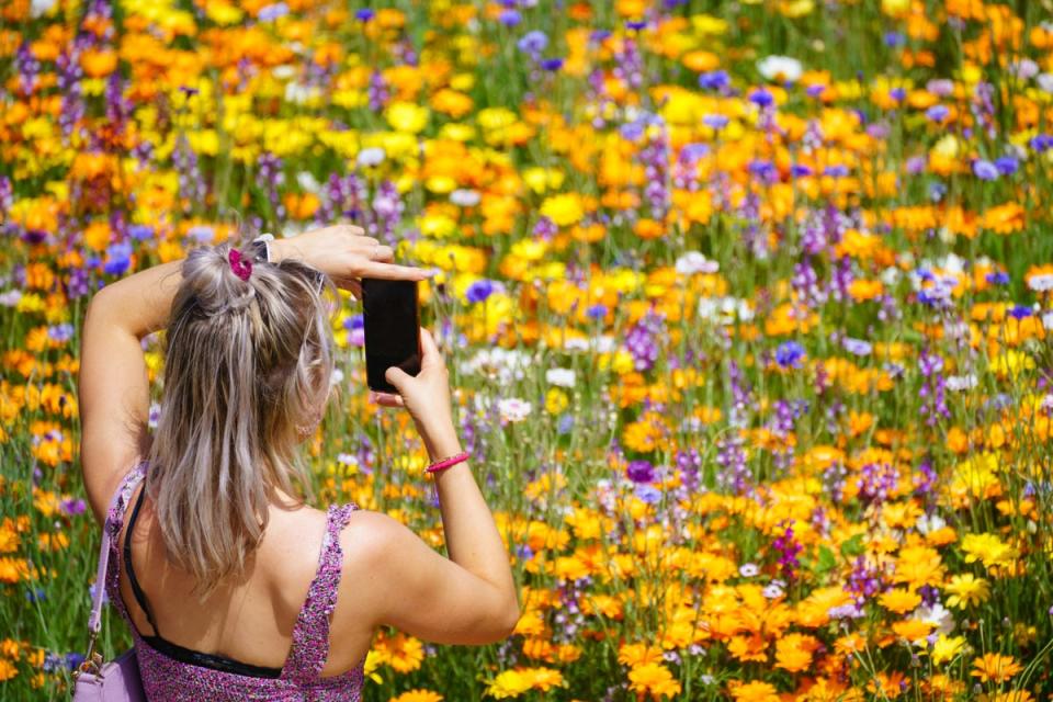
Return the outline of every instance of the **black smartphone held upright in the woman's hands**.
[[[416,281],[362,279],[366,385],[377,393],[398,390],[384,378],[396,365],[420,373],[420,306]]]

